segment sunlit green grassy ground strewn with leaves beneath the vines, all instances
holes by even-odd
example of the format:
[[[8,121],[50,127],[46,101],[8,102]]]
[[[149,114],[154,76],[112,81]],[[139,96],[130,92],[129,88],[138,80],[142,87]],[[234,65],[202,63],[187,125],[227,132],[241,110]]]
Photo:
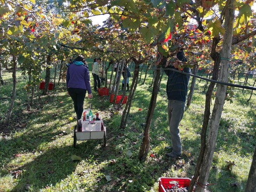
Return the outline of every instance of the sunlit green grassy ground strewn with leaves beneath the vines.
[[[119,129],[121,111],[112,109],[109,97],[93,92],[93,112],[99,111],[107,126],[107,146],[102,148],[102,140],[88,140],[78,141],[74,149],[73,131],[69,129],[76,120],[65,82],[42,96],[41,101],[35,98],[35,105],[26,110],[27,79],[19,72],[17,76],[17,97],[8,128],[2,124],[11,101],[11,73],[3,73],[6,85],[0,86],[0,192],[157,192],[159,177],[191,178],[194,174],[204,115],[204,81],[197,80],[193,102],[180,123],[184,154],[173,160],[165,156],[168,151],[164,149],[171,140],[163,78],[150,128],[149,157],[140,162],[138,150],[152,92],[150,77],[137,88],[125,130]],[[217,183],[209,185],[212,192],[244,191],[256,145],[256,96],[254,93],[247,103],[250,93],[235,88],[234,103],[225,103],[208,180]],[[88,99],[84,107],[88,107]],[[72,155],[81,157],[81,161],[73,161]],[[227,161],[234,161],[235,166],[228,169]],[[13,173],[18,170],[22,171],[20,175]]]

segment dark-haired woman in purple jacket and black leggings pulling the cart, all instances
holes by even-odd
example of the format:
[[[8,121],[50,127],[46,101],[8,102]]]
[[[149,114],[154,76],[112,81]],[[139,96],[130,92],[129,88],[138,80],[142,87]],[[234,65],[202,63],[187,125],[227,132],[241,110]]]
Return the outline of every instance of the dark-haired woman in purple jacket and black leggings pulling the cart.
[[[88,91],[88,98],[92,98],[90,74],[83,55],[78,55],[76,62],[67,68],[66,81],[67,91],[74,102],[74,110],[78,121],[83,113],[86,91]]]

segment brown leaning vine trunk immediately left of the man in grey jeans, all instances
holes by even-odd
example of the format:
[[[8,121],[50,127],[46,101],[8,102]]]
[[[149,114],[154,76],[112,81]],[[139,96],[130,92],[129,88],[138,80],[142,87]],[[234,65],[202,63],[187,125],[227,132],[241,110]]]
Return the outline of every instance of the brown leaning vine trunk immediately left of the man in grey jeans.
[[[160,69],[161,64],[157,66],[157,69]],[[141,161],[146,161],[147,154],[149,152],[149,129],[151,125],[151,121],[154,115],[155,107],[156,107],[156,99],[158,94],[158,87],[159,87],[159,79],[160,79],[160,70],[155,71],[155,79],[154,79],[154,85],[153,85],[153,91],[149,103],[149,110],[147,111],[147,120],[146,125],[144,128],[144,137],[142,139],[142,143],[140,144],[140,152],[138,158]]]

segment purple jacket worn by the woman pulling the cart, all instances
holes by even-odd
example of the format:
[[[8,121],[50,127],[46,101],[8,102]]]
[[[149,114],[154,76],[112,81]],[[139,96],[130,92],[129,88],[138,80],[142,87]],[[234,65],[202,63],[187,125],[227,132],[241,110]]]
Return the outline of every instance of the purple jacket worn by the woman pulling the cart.
[[[92,93],[89,70],[84,65],[71,64],[67,68],[66,82],[67,88],[81,88]]]

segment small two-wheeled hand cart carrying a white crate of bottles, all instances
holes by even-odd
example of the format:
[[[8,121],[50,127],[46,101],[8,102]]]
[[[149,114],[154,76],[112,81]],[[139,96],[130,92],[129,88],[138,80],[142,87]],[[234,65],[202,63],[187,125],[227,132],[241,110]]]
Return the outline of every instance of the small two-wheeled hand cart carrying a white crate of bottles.
[[[85,109],[84,111],[88,112],[90,109]],[[78,130],[77,126],[74,126],[74,147],[76,147],[76,142],[78,140],[99,139],[103,139],[103,147],[106,147],[106,126],[101,117],[99,121],[83,121],[83,118],[81,118],[78,120],[78,123],[81,126],[81,130]]]

